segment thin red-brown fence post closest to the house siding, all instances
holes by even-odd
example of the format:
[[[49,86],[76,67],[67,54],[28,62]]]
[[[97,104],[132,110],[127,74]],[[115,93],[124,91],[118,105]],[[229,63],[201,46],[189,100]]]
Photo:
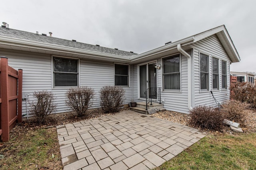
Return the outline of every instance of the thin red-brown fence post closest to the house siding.
[[[18,70],[18,122],[22,122],[22,69]]]

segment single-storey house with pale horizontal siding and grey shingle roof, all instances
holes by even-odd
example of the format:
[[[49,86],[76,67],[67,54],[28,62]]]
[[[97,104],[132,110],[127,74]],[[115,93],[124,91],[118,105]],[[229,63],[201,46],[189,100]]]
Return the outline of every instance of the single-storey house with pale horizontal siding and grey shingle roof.
[[[35,90],[56,96],[56,113],[70,111],[70,87],[95,90],[93,108],[100,107],[102,86],[122,86],[124,103],[159,100],[167,110],[188,113],[199,105],[214,106],[230,99],[230,64],[240,57],[224,25],[167,43],[145,53],[121,51],[0,27],[0,56],[23,69],[24,98]],[[147,92],[147,94],[146,94]],[[26,100],[22,103],[26,114]]]

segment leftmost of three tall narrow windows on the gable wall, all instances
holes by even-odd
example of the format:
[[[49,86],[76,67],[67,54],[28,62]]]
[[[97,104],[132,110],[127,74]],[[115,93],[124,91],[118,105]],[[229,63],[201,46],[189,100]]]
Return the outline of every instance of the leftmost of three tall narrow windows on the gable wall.
[[[209,56],[200,53],[200,89],[209,90]]]

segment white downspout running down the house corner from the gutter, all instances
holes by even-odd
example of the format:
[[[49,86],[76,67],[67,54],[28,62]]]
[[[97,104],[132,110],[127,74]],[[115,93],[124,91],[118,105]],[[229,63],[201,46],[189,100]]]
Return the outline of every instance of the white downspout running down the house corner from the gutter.
[[[192,79],[191,79],[191,56],[181,48],[181,45],[177,45],[178,51],[188,58],[188,109],[192,110]]]

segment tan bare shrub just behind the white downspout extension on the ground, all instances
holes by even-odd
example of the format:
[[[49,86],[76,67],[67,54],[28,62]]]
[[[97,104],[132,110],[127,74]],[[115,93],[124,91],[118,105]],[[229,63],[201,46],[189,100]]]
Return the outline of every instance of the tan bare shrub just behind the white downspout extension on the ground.
[[[245,125],[246,113],[245,109],[249,104],[237,100],[230,100],[230,102],[223,104],[221,112],[225,115],[226,119]]]

